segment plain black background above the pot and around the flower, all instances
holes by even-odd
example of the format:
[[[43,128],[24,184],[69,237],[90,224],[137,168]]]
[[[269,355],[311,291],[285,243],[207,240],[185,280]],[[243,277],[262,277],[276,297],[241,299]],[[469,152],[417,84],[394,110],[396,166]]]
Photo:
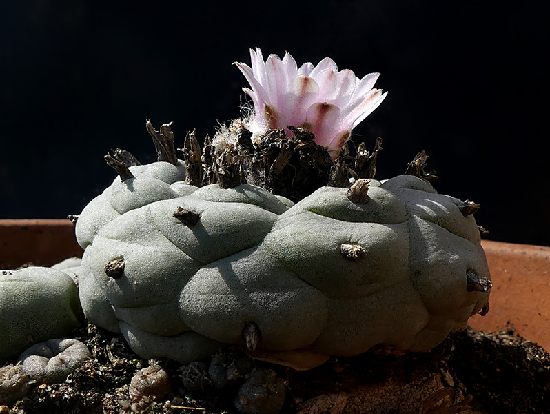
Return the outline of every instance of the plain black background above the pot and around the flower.
[[[245,97],[232,63],[259,46],[381,72],[389,95],[354,130],[384,139],[377,178],[426,150],[488,239],[548,246],[549,14],[533,3],[3,1],[0,218],[79,213],[114,179],[110,148],[154,161],[145,117],[174,121],[176,146],[212,135]]]

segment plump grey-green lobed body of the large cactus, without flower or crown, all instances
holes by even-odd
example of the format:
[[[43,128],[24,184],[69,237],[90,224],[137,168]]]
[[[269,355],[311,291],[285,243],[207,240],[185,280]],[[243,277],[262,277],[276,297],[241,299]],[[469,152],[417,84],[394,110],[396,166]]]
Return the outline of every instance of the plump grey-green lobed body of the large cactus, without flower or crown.
[[[130,171],[77,221],[79,284],[88,319],[142,357],[425,351],[487,304],[470,204],[419,177],[325,186],[293,205],[249,184],[183,184],[165,162]]]

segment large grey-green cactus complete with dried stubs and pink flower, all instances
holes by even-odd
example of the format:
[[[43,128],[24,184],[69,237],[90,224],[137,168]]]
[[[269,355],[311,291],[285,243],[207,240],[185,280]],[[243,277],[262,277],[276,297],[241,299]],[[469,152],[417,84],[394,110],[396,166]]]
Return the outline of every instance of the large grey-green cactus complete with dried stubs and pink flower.
[[[376,181],[380,139],[352,129],[385,98],[332,59],[236,63],[254,111],[182,160],[150,121],[159,161],[105,157],[119,177],[76,221],[90,322],[141,357],[182,364],[227,345],[295,368],[383,344],[427,351],[489,308],[478,205],[440,195],[423,152]]]

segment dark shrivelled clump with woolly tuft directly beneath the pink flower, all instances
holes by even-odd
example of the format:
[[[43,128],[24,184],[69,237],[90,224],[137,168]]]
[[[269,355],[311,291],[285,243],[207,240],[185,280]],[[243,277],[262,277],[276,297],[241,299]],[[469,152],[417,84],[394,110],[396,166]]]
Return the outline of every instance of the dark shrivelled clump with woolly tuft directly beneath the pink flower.
[[[312,132],[292,125],[287,128],[294,136],[287,137],[282,129],[269,130],[254,141],[241,121],[219,131],[203,150],[209,183],[230,187],[246,182],[299,201],[327,184],[348,186],[349,177],[374,177],[381,139],[372,154],[362,144],[355,157],[346,149],[333,161],[327,149],[316,144]]]

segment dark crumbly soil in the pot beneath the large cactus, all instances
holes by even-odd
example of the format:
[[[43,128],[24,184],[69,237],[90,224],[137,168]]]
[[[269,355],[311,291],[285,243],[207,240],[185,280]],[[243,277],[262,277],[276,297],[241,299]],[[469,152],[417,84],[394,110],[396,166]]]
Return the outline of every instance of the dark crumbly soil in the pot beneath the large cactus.
[[[32,384],[26,397],[0,407],[0,413],[238,412],[238,382],[222,390],[204,382],[203,389],[191,393],[183,385],[184,367],[174,361],[147,362],[118,335],[85,321],[72,337],[88,346],[93,359],[62,384]],[[333,357],[309,371],[251,363],[284,381],[283,414],[550,413],[550,355],[515,335],[512,327],[500,333],[467,329],[427,353],[398,355],[380,348]],[[136,399],[129,392],[134,374],[150,364],[161,366],[172,383],[170,394],[158,401],[147,395]],[[241,412],[265,411],[256,406]]]

